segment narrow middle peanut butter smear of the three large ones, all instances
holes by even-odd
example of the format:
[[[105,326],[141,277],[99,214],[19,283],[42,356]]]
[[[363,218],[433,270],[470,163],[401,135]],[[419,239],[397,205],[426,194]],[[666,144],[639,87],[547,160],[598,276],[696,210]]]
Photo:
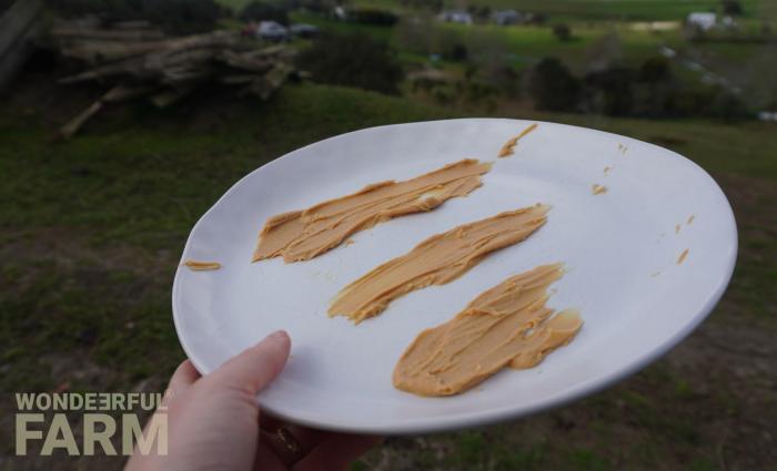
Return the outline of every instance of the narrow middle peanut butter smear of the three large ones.
[[[537,204],[433,235],[341,289],[329,314],[346,316],[359,324],[381,314],[402,295],[452,281],[490,253],[532,235],[545,224],[548,209]]]

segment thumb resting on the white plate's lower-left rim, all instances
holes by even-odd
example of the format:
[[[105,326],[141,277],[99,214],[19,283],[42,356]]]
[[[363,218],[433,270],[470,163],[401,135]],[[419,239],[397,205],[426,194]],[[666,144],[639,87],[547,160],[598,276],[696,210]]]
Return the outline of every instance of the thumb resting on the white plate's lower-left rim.
[[[283,370],[290,350],[289,334],[279,330],[228,360],[213,371],[211,378],[218,385],[241,388],[255,395]]]

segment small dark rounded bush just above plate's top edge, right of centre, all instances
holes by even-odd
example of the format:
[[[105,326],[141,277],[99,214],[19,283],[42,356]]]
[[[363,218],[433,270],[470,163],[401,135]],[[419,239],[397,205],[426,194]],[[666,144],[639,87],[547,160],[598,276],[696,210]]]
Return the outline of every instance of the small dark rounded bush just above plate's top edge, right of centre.
[[[579,81],[558,59],[543,59],[534,69],[532,93],[538,110],[572,111],[577,106]]]

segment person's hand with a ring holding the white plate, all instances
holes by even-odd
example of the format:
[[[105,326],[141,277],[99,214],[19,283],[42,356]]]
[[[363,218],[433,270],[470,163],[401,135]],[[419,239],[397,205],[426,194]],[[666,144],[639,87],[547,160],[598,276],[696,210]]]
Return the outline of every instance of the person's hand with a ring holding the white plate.
[[[380,439],[260,418],[256,393],[281,372],[290,349],[289,336],[278,331],[204,378],[189,360],[182,362],[164,402],[168,454],[135,450],[125,471],[346,469]]]

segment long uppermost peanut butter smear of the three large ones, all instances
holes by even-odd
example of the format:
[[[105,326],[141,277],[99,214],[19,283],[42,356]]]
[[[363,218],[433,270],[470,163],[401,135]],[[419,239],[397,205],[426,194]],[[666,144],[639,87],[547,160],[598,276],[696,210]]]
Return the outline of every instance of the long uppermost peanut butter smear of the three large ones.
[[[279,256],[286,263],[316,257],[377,223],[432,211],[448,198],[466,196],[481,186],[481,175],[491,166],[465,158],[412,180],[375,183],[304,211],[273,216],[259,235],[253,262]]]

